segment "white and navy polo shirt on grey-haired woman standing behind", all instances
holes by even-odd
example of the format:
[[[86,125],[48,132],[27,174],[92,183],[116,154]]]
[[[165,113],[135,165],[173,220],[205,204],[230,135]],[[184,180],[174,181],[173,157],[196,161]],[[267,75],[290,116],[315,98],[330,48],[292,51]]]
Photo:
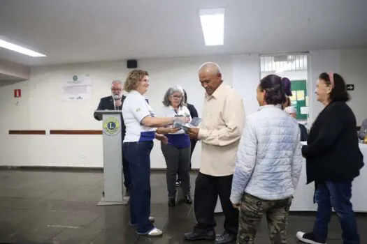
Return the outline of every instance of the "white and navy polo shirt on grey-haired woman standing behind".
[[[183,117],[189,117],[190,121],[192,120],[189,109],[187,109],[186,106],[179,107],[177,112],[172,106],[164,106],[164,108],[161,109],[160,115],[162,117],[183,116]],[[185,134],[185,131],[182,129],[175,133],[166,134],[166,137],[168,139],[168,144],[172,146],[177,146],[178,148],[186,148],[190,146],[189,136]]]

